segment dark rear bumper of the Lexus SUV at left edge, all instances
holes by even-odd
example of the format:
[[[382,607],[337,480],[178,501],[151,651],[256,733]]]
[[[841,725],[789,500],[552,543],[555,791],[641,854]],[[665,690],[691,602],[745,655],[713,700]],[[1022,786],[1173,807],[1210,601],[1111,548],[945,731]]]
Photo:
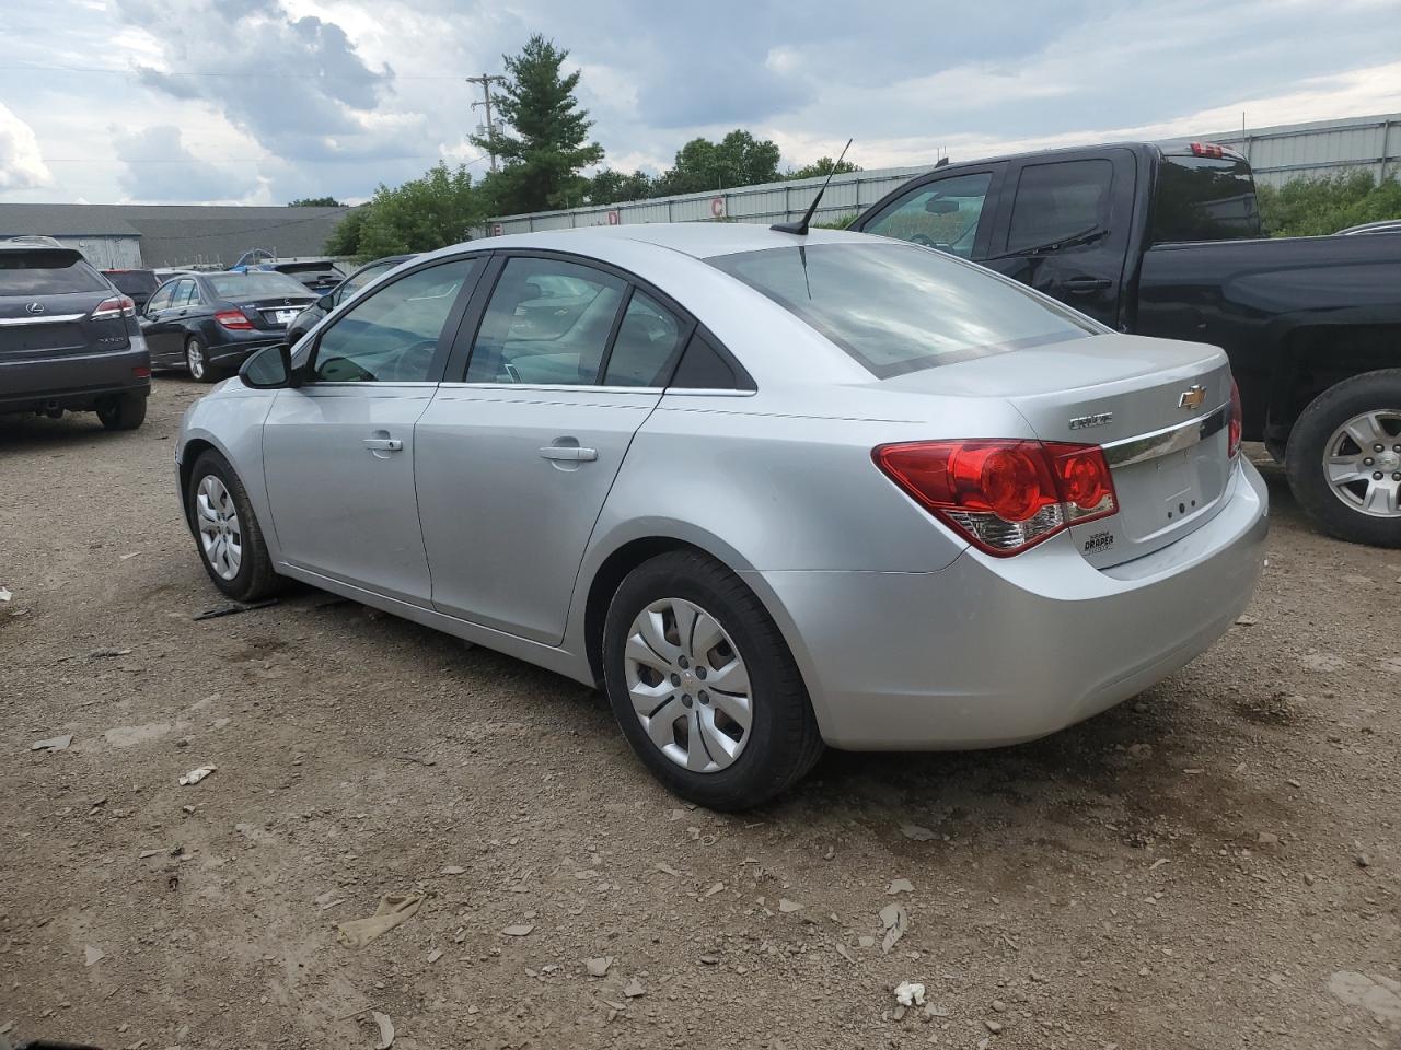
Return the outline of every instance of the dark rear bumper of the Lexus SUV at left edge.
[[[144,340],[126,350],[0,361],[0,412],[92,409],[113,393],[147,395],[151,357]]]

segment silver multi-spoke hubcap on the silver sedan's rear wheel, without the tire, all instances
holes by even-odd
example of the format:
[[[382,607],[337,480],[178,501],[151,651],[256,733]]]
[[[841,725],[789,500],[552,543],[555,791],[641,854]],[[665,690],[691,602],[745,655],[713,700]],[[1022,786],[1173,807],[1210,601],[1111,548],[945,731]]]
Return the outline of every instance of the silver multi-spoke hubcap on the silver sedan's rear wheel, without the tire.
[[[750,741],[750,672],[710,613],[684,598],[653,602],[632,622],[623,669],[632,710],[663,755],[692,773],[734,764]]]

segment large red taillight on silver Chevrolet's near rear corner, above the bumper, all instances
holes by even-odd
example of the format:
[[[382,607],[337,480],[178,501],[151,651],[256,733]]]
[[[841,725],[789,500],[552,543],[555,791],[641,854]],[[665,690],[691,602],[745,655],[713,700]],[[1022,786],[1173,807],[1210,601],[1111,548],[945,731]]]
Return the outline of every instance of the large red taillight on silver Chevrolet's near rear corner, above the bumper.
[[[871,459],[916,503],[989,554],[1017,554],[1056,532],[1118,511],[1098,445],[909,441]]]

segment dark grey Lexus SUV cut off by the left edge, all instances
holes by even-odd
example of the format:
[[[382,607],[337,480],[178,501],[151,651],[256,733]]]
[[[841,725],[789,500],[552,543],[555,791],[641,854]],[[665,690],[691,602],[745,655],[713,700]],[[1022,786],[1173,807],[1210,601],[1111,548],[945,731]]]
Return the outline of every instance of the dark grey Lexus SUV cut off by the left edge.
[[[74,248],[0,239],[0,414],[95,412],[108,430],[134,430],[150,392],[132,300]]]

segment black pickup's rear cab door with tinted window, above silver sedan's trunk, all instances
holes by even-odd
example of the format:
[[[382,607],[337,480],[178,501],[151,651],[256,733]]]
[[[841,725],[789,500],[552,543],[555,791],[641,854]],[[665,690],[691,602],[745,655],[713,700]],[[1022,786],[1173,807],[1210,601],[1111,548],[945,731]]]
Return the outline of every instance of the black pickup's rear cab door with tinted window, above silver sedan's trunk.
[[[1133,225],[1131,150],[1014,161],[992,230],[986,266],[1030,284],[1111,328]]]

